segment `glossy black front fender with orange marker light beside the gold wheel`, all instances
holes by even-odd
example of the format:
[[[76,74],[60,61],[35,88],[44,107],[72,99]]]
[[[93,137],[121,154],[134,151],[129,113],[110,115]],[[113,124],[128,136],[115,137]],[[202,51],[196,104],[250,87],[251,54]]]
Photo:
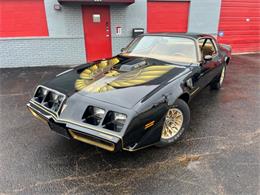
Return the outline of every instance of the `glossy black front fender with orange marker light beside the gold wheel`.
[[[160,141],[165,114],[176,99],[184,93],[182,77],[168,82],[138,102],[134,110],[137,116],[129,124],[124,135],[124,148],[130,151],[153,145]],[[152,124],[149,128],[146,126]]]

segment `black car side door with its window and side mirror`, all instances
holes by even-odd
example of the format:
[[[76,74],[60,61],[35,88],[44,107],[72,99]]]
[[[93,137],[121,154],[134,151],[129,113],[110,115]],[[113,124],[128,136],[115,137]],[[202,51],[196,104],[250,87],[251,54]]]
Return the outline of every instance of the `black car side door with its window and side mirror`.
[[[195,77],[197,86],[206,87],[218,74],[221,65],[219,53],[215,42],[211,38],[201,38],[198,40],[202,56],[200,72]]]

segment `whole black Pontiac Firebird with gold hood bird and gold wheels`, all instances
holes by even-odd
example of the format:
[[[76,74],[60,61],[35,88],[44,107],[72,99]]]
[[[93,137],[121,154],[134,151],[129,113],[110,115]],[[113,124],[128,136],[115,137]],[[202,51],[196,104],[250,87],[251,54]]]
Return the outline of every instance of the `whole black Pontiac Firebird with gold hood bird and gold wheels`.
[[[39,85],[27,106],[58,134],[108,151],[166,146],[188,129],[188,102],[221,88],[230,57],[210,35],[144,34]]]

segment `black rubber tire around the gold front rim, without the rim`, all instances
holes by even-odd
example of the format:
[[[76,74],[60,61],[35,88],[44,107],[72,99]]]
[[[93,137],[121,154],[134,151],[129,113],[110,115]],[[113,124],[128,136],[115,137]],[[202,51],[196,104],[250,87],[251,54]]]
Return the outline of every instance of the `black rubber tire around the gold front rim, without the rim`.
[[[164,139],[161,137],[160,142],[156,145],[158,147],[168,146],[168,145],[176,142],[177,140],[179,140],[182,137],[184,132],[189,128],[190,108],[189,108],[188,104],[185,101],[183,101],[182,99],[177,99],[175,101],[175,103],[169,108],[169,110],[172,108],[177,108],[182,112],[182,115],[183,115],[182,126],[181,126],[180,130],[178,131],[178,133],[176,135],[174,135],[172,138]]]

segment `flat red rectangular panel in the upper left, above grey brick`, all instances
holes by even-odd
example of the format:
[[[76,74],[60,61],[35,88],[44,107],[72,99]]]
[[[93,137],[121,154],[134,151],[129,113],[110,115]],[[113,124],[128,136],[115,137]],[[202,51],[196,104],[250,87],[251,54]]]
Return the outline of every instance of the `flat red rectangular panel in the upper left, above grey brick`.
[[[0,37],[48,36],[44,0],[0,0]]]

